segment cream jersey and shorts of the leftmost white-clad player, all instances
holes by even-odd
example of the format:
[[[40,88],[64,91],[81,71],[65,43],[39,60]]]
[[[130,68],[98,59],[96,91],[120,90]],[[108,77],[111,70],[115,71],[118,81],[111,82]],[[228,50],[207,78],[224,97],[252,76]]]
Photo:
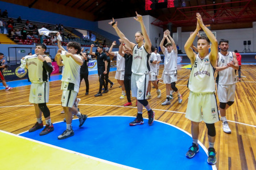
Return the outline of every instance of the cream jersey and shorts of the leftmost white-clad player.
[[[44,55],[43,57],[46,57]],[[28,67],[28,76],[31,81],[30,103],[48,103],[49,101],[49,74],[38,56],[25,57]]]

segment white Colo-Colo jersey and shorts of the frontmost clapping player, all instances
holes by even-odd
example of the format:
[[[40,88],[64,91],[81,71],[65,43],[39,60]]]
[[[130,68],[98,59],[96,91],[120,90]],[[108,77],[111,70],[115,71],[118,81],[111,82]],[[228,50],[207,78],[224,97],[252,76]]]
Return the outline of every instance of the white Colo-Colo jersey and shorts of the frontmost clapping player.
[[[207,124],[219,121],[217,101],[214,95],[214,68],[209,56],[201,59],[197,54],[189,76],[188,88],[190,93],[185,117],[194,122],[203,120]]]

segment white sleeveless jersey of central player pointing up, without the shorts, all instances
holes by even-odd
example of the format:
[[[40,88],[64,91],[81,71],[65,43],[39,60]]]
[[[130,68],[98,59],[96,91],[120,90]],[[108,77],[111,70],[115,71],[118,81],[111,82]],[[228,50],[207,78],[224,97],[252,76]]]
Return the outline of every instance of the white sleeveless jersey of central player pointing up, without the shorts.
[[[138,48],[138,44],[133,48],[133,64],[131,65],[131,72],[133,74],[143,75],[150,72],[150,66],[148,65],[148,59],[150,54],[147,53],[144,48],[144,44],[141,48]]]

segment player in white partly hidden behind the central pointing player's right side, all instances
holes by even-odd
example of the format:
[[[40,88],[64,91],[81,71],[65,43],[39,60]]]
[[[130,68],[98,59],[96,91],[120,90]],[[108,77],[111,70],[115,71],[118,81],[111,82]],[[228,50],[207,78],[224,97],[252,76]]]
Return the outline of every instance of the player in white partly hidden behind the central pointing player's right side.
[[[161,91],[158,89],[158,83],[156,82],[157,79],[157,62],[158,62],[158,58],[155,54],[155,47],[152,45],[151,46],[151,56],[150,56],[150,75],[149,75],[149,80],[148,80],[148,86],[147,86],[147,96],[146,99],[150,99],[151,98],[151,82],[155,87],[156,90],[156,94],[158,95],[158,98],[161,97]]]

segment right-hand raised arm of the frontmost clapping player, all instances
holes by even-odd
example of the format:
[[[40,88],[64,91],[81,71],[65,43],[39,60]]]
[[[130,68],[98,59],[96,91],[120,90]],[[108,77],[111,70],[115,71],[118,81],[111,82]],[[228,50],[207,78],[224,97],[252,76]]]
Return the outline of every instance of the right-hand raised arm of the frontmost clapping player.
[[[210,46],[209,59],[210,63],[212,63],[212,66],[216,67],[216,60],[218,57],[218,41],[213,33],[207,27],[205,27],[203,19],[201,18],[201,15],[199,13],[196,14],[196,18],[199,22],[200,27],[204,30],[210,42],[212,42],[212,45]]]

